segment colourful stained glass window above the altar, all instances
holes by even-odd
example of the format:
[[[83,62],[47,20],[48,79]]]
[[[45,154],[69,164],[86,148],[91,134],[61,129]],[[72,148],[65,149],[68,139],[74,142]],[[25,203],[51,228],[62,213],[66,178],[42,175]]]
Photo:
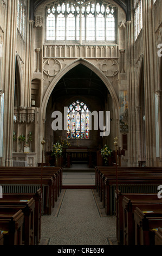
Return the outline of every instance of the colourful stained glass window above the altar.
[[[76,101],[68,107],[67,139],[89,139],[88,112],[84,102]]]

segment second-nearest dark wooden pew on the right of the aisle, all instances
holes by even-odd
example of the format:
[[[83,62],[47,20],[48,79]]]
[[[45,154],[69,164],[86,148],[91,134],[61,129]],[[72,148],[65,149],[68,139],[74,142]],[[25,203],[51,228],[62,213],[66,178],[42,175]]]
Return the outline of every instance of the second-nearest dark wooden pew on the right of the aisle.
[[[122,200],[124,220],[124,245],[135,245],[134,239],[134,210],[139,207],[142,211],[162,209],[162,200],[157,194],[127,195]]]

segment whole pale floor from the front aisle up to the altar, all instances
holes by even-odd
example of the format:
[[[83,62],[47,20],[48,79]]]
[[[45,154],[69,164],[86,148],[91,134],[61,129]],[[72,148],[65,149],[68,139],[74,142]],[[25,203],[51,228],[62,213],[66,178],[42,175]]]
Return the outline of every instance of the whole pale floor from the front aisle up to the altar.
[[[81,188],[75,189],[76,185]],[[84,188],[86,185],[95,185],[95,169],[87,168],[86,164],[63,169],[66,188],[53,214],[42,216],[40,245],[118,245],[115,216],[105,214],[95,189]]]

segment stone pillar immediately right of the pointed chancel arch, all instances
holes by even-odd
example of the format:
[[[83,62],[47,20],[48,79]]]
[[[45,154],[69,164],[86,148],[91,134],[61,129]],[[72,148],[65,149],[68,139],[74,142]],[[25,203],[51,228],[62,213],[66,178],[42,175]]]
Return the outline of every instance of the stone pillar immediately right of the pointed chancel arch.
[[[133,25],[126,22],[126,65],[128,83],[128,165],[137,166],[137,139],[135,125],[135,86],[134,86],[134,58],[133,58]]]

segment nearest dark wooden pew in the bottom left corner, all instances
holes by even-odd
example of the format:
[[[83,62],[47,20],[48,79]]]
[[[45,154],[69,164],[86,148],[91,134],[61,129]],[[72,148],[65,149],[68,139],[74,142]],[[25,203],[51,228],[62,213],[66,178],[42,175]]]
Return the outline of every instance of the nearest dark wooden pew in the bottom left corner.
[[[0,229],[3,232],[3,245],[22,245],[24,215],[22,210],[0,214]]]

